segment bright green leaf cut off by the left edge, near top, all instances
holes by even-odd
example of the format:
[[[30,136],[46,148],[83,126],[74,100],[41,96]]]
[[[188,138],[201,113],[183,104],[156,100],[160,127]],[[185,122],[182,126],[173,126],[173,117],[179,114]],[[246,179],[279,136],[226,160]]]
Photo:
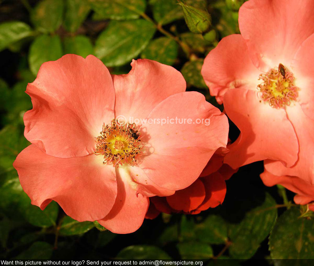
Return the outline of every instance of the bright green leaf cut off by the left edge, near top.
[[[21,21],[10,21],[0,24],[0,51],[33,34],[30,26]]]

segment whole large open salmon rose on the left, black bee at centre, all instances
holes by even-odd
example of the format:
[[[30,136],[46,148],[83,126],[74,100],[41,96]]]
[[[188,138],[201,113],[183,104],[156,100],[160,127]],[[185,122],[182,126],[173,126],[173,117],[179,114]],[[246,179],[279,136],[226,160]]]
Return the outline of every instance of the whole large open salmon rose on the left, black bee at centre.
[[[92,55],[65,55],[44,63],[28,84],[33,109],[24,115],[24,135],[31,145],[14,167],[32,204],[45,209],[54,200],[75,220],[130,233],[149,197],[188,187],[225,147],[227,117],[200,93],[185,92],[180,72],[151,60],[131,65],[128,74],[111,76]],[[196,122],[158,123],[165,118]]]

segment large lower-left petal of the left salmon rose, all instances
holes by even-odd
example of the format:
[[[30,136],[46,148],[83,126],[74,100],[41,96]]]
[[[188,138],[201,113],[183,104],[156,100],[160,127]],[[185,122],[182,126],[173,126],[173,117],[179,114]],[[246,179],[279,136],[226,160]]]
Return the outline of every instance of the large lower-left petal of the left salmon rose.
[[[96,155],[61,159],[45,154],[34,144],[13,164],[32,204],[45,209],[51,200],[78,221],[106,216],[116,200],[117,184],[112,166]]]

